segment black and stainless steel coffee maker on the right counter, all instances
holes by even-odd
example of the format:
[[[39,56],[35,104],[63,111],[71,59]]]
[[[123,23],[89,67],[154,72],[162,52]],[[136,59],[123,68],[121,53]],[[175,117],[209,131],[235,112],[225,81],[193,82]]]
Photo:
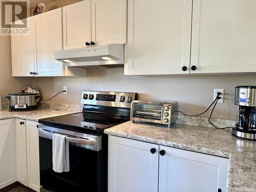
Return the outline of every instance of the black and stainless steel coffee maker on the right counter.
[[[256,86],[237,86],[234,104],[239,105],[239,113],[236,127],[232,128],[232,135],[256,140]]]

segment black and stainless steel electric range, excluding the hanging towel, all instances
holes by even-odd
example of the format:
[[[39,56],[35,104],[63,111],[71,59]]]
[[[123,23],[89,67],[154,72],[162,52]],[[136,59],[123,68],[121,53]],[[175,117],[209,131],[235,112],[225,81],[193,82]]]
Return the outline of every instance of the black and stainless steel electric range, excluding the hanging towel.
[[[83,111],[39,119],[40,191],[106,192],[108,136],[104,129],[130,120],[135,93],[83,91]],[[69,141],[70,171],[52,169],[52,134]]]

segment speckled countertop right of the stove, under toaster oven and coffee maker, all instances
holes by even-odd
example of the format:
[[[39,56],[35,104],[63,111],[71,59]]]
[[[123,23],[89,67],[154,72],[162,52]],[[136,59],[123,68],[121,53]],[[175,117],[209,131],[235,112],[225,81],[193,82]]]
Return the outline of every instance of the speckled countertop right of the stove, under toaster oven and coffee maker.
[[[227,191],[256,191],[256,141],[238,139],[230,130],[175,124],[166,126],[126,122],[105,134],[229,158]]]

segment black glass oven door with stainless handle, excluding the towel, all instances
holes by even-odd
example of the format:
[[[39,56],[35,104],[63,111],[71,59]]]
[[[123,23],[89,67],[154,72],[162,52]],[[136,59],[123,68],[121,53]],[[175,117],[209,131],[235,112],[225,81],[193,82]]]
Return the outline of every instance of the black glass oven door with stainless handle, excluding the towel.
[[[101,192],[102,150],[101,136],[81,138],[79,133],[39,125],[40,191]],[[69,141],[70,171],[56,173],[52,169],[52,135],[67,135]],[[96,146],[96,147],[95,147]],[[99,149],[100,148],[100,149]]]

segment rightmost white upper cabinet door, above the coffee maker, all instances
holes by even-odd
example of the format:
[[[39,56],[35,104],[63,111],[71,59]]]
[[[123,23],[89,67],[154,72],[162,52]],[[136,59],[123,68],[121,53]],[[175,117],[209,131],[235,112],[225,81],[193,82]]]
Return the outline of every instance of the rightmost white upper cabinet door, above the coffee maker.
[[[256,1],[194,0],[190,73],[256,71]]]

